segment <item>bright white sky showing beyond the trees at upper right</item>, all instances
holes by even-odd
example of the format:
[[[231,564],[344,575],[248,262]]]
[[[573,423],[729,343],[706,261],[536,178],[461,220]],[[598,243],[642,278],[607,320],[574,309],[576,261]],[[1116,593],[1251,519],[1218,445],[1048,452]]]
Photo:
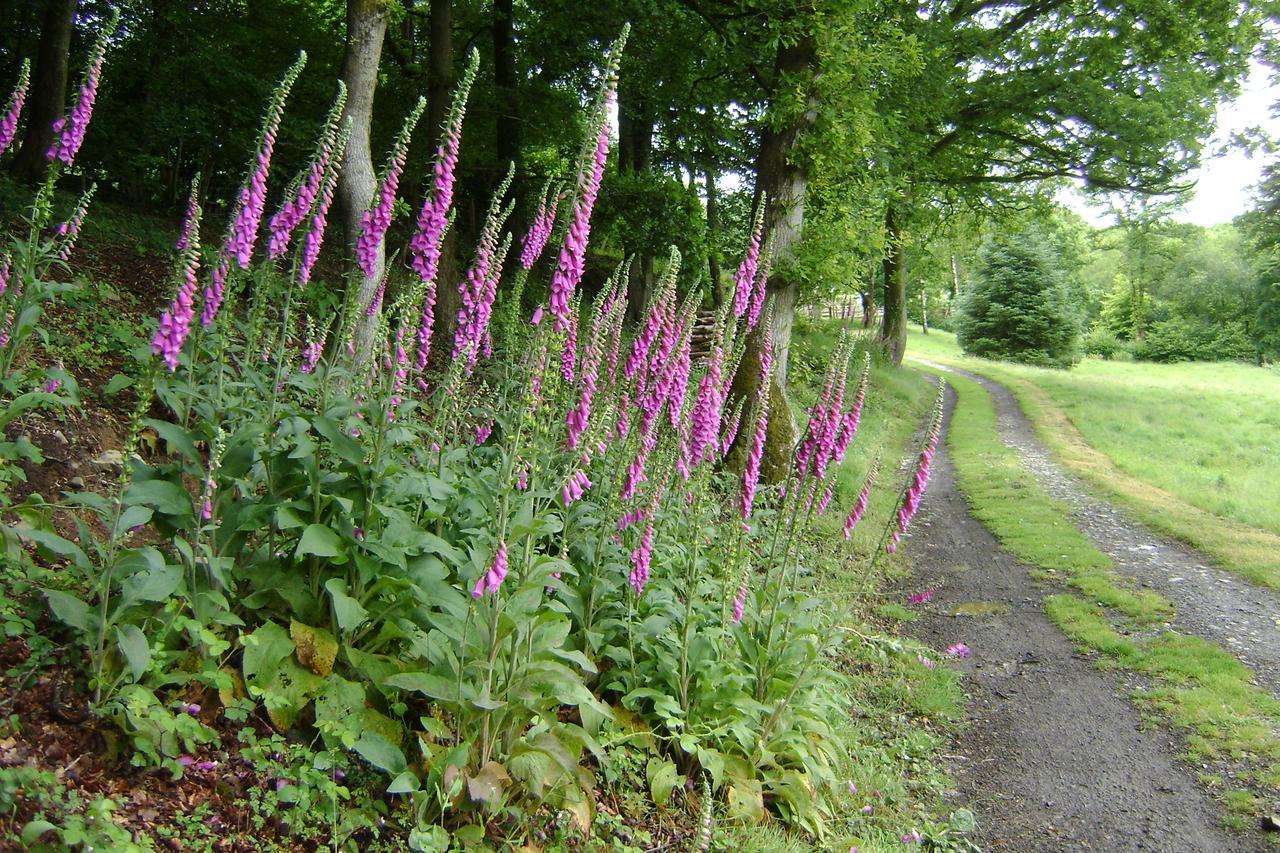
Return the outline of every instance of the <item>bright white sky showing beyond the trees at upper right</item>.
[[[1219,106],[1217,132],[1206,147],[1203,163],[1190,174],[1196,182],[1192,200],[1172,218],[1210,227],[1231,222],[1235,216],[1253,206],[1253,188],[1262,179],[1262,168],[1271,158],[1266,154],[1249,156],[1239,149],[1230,149],[1220,156],[1220,151],[1230,136],[1248,127],[1261,126],[1272,137],[1280,138],[1280,118],[1271,113],[1274,104],[1280,101],[1280,86],[1272,85],[1263,65],[1254,63],[1240,96]],[[1114,224],[1103,209],[1089,206],[1082,193],[1065,190],[1059,200],[1071,207],[1089,223],[1098,227]]]

